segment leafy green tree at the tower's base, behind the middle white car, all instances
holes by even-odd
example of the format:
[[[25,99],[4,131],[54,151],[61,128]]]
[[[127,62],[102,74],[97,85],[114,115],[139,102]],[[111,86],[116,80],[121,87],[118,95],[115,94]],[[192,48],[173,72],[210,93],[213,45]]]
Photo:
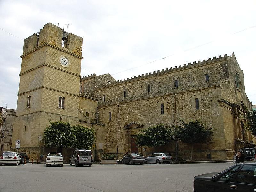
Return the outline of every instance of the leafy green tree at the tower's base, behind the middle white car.
[[[76,136],[71,122],[56,121],[50,124],[44,130],[45,147],[54,147],[62,152],[62,148],[72,148],[75,146]]]

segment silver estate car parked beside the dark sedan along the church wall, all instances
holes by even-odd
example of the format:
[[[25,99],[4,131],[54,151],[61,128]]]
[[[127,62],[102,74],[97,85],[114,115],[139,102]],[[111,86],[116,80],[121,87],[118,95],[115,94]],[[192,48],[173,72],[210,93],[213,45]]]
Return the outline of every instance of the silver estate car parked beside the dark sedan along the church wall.
[[[147,163],[170,164],[170,163],[172,163],[172,156],[169,153],[153,153],[149,157],[145,158],[145,164],[147,164]]]

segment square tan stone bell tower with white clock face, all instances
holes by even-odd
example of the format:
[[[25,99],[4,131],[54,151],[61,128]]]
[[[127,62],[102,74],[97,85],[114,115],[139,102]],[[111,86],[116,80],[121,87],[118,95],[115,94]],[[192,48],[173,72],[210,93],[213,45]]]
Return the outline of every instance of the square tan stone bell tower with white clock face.
[[[52,23],[24,40],[12,148],[37,156],[49,121],[79,123],[82,40]]]

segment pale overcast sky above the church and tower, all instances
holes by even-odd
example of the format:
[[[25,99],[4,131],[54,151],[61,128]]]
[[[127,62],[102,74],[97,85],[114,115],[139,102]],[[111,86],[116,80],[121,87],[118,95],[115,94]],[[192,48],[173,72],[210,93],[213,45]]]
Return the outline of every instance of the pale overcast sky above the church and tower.
[[[83,37],[81,76],[120,80],[234,52],[256,104],[255,0],[0,0],[0,106],[16,109],[24,39],[49,22]]]

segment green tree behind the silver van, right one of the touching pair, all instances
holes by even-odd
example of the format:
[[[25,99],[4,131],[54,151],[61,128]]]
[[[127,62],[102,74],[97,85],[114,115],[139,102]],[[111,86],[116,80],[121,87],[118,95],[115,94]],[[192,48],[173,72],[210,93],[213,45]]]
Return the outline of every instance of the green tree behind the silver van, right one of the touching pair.
[[[94,143],[94,131],[91,128],[83,125],[74,126],[74,133],[76,136],[75,148],[91,148]]]

